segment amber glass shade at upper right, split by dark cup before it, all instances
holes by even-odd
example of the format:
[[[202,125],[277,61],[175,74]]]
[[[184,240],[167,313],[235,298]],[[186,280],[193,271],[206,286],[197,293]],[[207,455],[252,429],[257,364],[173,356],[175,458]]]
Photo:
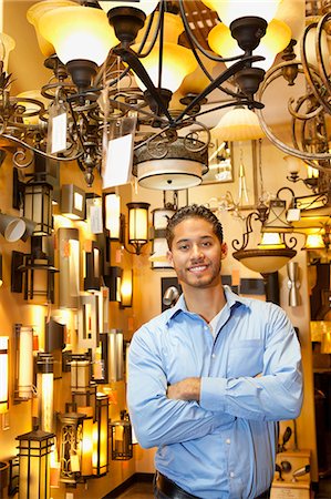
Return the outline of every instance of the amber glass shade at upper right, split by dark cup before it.
[[[265,37],[261,38],[258,49],[256,49],[256,53],[262,55],[266,60],[255,62],[252,65],[267,71],[272,65],[276,55],[288,47],[290,40],[290,28],[283,21],[272,19],[268,24]],[[224,23],[219,23],[210,30],[208,44],[214,52],[224,58],[232,58],[242,53],[242,50],[231,35],[230,29]],[[232,62],[226,62],[225,64],[229,67]]]

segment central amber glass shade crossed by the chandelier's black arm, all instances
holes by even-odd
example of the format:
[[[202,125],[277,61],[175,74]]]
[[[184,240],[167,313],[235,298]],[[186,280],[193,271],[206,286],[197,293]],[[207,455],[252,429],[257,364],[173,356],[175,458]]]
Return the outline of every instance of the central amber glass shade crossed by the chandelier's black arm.
[[[135,51],[137,51],[138,48],[138,44],[132,47]],[[151,53],[142,59],[142,63],[155,86],[158,86],[158,51],[159,47],[156,43]],[[189,49],[177,45],[176,43],[164,43],[162,57],[163,69],[161,88],[175,92],[180,86],[184,78],[197,68],[197,61]],[[136,82],[142,90],[146,90],[145,85],[137,77]]]

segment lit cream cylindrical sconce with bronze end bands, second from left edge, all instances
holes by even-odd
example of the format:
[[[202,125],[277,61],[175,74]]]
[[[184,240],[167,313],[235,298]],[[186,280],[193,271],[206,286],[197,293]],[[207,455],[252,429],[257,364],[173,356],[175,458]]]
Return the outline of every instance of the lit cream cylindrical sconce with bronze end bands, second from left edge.
[[[33,327],[14,326],[14,401],[32,398],[33,387]]]

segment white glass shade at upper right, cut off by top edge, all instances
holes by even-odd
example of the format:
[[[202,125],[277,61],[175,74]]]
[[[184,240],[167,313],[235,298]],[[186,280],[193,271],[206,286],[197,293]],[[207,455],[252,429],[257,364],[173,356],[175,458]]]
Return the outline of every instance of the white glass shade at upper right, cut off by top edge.
[[[280,0],[203,0],[205,6],[215,10],[219,19],[227,26],[232,21],[245,17],[258,17],[265,19],[267,22],[275,18]]]

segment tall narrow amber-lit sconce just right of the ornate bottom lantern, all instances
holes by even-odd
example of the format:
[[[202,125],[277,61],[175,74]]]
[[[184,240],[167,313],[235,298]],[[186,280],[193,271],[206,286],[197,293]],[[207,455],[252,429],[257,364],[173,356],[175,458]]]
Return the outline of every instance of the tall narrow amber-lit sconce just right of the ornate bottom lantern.
[[[93,475],[101,477],[108,471],[108,396],[96,394],[93,428]]]

